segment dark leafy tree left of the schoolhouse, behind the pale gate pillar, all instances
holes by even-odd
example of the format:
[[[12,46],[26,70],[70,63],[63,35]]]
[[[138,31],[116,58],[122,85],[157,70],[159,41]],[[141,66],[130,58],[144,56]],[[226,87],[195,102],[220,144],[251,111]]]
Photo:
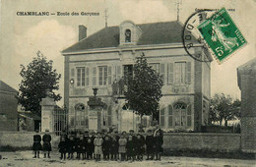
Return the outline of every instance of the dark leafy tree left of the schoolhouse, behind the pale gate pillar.
[[[61,99],[60,94],[53,92],[59,89],[60,74],[52,68],[52,61],[47,61],[39,51],[37,57],[32,59],[32,62],[27,66],[21,65],[20,75],[22,82],[20,85],[20,92],[18,95],[18,102],[22,104],[26,111],[31,111],[40,116],[41,108],[40,101],[48,95],[55,101]]]

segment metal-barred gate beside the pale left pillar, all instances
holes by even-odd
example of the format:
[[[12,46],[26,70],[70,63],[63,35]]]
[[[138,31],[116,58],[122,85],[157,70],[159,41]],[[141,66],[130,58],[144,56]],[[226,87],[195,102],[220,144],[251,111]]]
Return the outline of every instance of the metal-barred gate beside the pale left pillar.
[[[63,130],[68,131],[68,109],[54,108],[53,111],[53,132],[59,136]]]

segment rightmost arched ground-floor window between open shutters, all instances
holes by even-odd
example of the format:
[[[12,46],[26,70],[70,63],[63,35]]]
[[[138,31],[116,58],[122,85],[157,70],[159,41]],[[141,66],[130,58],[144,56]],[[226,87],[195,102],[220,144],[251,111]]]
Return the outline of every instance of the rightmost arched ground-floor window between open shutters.
[[[177,127],[186,125],[186,105],[184,103],[176,103],[174,105],[174,123]]]

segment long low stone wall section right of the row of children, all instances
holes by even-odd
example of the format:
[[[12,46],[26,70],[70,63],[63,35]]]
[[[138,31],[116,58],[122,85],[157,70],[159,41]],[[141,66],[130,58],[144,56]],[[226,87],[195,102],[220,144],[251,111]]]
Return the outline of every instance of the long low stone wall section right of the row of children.
[[[238,134],[166,133],[163,149],[207,149],[232,152],[240,150],[241,136]]]

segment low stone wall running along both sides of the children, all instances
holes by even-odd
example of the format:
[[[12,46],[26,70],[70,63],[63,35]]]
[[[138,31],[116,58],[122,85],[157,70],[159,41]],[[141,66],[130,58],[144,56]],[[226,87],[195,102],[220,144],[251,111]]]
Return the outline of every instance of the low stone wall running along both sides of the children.
[[[0,132],[0,146],[32,146],[34,133]],[[41,136],[43,133],[40,134]],[[58,136],[52,135],[52,146],[57,147]],[[232,152],[240,150],[241,136],[237,134],[164,133],[164,150],[212,150]]]

